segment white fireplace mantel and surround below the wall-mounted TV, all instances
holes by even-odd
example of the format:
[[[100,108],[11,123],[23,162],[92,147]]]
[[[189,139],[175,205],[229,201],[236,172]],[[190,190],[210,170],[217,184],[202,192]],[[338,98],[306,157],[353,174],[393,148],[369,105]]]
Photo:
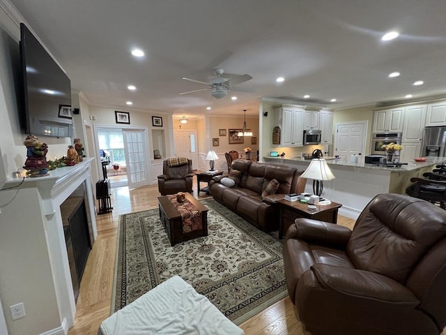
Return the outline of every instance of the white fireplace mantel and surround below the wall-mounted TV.
[[[6,308],[23,302],[26,309],[26,317],[17,321],[5,313],[10,334],[67,334],[74,323],[76,306],[60,206],[85,183],[96,239],[92,161],[84,158],[45,177],[10,179],[0,191],[0,203],[8,203],[0,214],[1,302]]]

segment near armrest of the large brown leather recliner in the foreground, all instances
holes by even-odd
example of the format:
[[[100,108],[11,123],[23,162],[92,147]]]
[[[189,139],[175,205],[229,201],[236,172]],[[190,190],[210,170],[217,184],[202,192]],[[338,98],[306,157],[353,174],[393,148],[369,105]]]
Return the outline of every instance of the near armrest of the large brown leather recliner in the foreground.
[[[413,305],[414,308],[420,304],[405,286],[382,274],[321,263],[312,265],[311,269],[326,290]]]

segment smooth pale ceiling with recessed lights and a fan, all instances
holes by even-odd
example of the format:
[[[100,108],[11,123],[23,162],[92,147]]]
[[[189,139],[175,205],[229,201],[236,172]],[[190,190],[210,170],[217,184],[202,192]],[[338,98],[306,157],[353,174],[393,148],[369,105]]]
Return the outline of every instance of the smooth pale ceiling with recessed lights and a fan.
[[[262,97],[335,109],[446,92],[444,0],[11,2],[93,105],[249,115]],[[381,41],[390,30],[401,35]],[[146,56],[132,57],[133,47]],[[206,88],[182,77],[208,82],[217,66],[253,79],[220,100],[210,91],[179,95]],[[389,78],[393,71],[401,75]]]

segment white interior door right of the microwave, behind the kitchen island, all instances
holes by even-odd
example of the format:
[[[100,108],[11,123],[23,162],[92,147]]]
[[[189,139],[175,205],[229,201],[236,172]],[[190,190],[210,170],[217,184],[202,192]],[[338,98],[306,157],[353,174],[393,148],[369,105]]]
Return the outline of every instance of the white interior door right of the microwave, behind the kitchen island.
[[[336,141],[334,142],[334,155],[350,160],[351,155],[362,155],[365,143],[364,122],[355,124],[337,124]]]

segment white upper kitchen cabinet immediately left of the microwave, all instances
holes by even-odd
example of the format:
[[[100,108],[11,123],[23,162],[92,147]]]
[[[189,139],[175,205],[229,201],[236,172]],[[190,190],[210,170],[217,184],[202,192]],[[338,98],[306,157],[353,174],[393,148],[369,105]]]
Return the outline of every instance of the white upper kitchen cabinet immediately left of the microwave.
[[[302,147],[305,110],[301,107],[282,106],[274,108],[275,126],[282,129],[281,145]]]

